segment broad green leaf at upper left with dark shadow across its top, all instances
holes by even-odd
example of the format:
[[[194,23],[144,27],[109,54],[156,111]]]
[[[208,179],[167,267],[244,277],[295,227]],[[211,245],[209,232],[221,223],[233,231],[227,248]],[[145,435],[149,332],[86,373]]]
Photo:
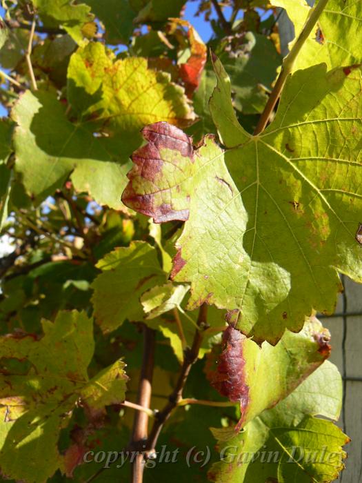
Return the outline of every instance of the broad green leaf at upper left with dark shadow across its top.
[[[117,154],[103,139],[68,121],[64,106],[52,94],[25,92],[12,119],[17,122],[15,169],[34,201],[39,204],[52,195],[72,173],[74,188],[89,191],[99,204],[121,208],[127,165],[117,162]]]

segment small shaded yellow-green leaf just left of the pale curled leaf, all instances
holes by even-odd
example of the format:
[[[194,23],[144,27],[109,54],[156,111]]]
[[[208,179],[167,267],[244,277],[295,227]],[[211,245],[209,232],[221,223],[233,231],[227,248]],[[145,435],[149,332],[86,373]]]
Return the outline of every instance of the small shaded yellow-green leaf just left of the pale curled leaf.
[[[94,317],[103,332],[114,331],[125,319],[141,321],[140,297],[165,282],[157,250],[145,242],[116,248],[97,263],[103,273],[94,280]]]

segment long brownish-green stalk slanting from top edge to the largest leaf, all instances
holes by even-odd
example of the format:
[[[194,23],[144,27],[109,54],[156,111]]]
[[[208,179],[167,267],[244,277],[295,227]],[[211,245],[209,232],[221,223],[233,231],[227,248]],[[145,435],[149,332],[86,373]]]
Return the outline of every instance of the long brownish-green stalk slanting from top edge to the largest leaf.
[[[294,42],[294,45],[292,46],[292,49],[290,50],[289,54],[287,55],[287,57],[285,57],[283,61],[283,66],[281,67],[281,72],[279,74],[279,77],[278,79],[276,79],[276,83],[272,90],[272,93],[270,94],[268,103],[266,104],[265,109],[263,110],[261,117],[259,119],[259,122],[257,124],[257,127],[254,130],[254,136],[257,136],[261,132],[263,132],[265,127],[268,125],[268,121],[270,119],[270,116],[272,115],[276,102],[281,96],[281,91],[283,90],[285,81],[287,80],[288,76],[292,72],[292,68],[294,66],[296,57],[298,57],[299,52],[301,51],[301,48],[303,47],[305,41],[310,36],[310,33],[312,32],[314,26],[316,25],[316,22],[318,21],[327,3],[328,3],[328,0],[319,0],[316,6],[311,8],[310,14],[301,30],[301,33],[299,34],[298,38]]]

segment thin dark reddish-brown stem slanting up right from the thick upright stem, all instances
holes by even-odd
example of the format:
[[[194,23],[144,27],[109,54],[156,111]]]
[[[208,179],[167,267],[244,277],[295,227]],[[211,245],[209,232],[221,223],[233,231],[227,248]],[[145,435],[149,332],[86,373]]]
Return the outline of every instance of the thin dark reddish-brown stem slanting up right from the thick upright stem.
[[[201,342],[203,339],[203,331],[207,328],[206,317],[208,313],[208,306],[202,304],[199,310],[199,317],[197,319],[198,329],[195,331],[194,340],[192,342],[191,348],[186,348],[185,356],[183,358],[183,364],[177,380],[177,384],[174,387],[170,397],[168,398],[168,404],[160,411],[156,413],[154,417],[154,424],[150,431],[150,436],[146,444],[146,454],[150,455],[154,453],[154,449],[157,445],[157,440],[159,439],[159,434],[163,428],[163,424],[168,420],[174,408],[177,407],[179,402],[182,400],[183,388],[188,379],[192,364],[197,361],[199,357],[199,350]],[[135,483],[135,482],[134,482]]]

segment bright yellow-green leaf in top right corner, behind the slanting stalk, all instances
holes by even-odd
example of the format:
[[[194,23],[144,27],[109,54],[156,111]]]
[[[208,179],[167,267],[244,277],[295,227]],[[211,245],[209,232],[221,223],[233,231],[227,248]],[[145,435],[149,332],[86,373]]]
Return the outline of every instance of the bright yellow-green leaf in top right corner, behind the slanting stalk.
[[[304,0],[272,0],[274,6],[285,8],[294,23],[298,37],[303,23],[310,13]],[[294,70],[324,62],[328,69],[350,66],[362,61],[362,2],[361,0],[329,0],[300,54]],[[348,44],[345,41],[348,32]],[[292,42],[293,43],[293,42]]]

